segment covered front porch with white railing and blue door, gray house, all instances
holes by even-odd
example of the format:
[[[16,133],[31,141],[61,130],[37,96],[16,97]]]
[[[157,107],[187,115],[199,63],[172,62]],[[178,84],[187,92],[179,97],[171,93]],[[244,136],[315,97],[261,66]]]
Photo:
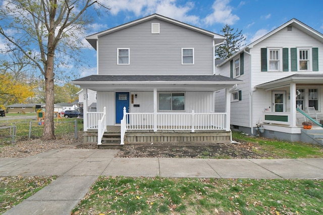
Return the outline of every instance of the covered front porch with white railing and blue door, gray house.
[[[97,92],[98,112],[84,109],[84,131],[97,130],[98,145],[109,132],[107,126],[120,127],[121,145],[230,142],[230,89],[240,83],[216,75],[94,76],[73,81],[83,88],[84,95],[87,89]],[[221,89],[226,90],[225,111],[215,113],[214,92]]]

